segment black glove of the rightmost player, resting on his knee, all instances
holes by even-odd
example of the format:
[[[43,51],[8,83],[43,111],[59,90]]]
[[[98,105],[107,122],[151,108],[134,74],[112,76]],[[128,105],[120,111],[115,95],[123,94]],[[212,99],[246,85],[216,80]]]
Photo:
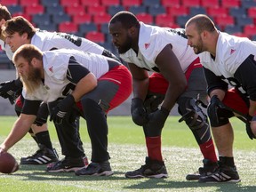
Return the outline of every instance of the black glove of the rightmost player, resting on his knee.
[[[219,100],[217,95],[213,95],[207,108],[208,116],[211,116],[212,122],[219,124],[218,109],[226,108],[224,104]]]

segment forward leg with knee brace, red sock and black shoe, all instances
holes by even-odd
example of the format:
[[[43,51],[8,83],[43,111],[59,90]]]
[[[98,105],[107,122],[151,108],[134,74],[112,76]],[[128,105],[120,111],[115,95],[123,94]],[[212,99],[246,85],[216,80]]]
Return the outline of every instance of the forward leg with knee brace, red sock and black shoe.
[[[198,180],[202,176],[212,174],[218,167],[210,126],[207,116],[199,107],[199,100],[184,97],[178,100],[178,104],[182,116],[179,122],[184,120],[188,124],[204,156],[203,167],[186,177],[186,180]]]

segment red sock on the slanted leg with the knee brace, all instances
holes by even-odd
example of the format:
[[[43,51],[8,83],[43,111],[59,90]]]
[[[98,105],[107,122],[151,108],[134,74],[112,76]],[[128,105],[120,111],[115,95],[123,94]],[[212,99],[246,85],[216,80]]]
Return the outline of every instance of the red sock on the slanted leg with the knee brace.
[[[205,159],[209,159],[212,162],[218,161],[212,139],[199,145],[199,147]]]

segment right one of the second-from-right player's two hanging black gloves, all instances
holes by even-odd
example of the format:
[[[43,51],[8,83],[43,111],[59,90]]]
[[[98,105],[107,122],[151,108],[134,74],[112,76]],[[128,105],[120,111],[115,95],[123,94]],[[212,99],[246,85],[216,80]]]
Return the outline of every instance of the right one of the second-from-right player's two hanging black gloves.
[[[148,115],[148,127],[156,130],[162,130],[169,113],[170,111],[163,107],[153,113],[150,113]]]

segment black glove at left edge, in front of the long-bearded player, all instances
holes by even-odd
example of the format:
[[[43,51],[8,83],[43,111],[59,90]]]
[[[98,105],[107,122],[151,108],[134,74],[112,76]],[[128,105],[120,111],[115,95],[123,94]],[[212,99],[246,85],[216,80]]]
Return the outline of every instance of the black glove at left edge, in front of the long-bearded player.
[[[12,104],[14,103],[14,100],[20,96],[23,87],[20,78],[12,81],[2,82],[0,86],[0,96],[4,99],[8,98]]]

